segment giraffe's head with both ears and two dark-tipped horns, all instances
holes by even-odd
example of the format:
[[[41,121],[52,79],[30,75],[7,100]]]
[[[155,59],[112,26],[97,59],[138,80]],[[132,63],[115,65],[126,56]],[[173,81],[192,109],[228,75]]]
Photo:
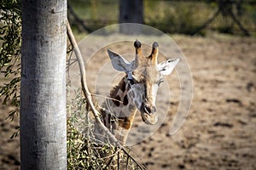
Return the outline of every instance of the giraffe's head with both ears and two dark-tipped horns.
[[[160,83],[164,82],[163,76],[171,74],[179,59],[168,59],[157,63],[158,43],[152,45],[152,52],[148,57],[142,54],[141,42],[134,42],[136,57],[128,62],[121,55],[108,49],[113,68],[125,71],[129,83],[128,97],[133,105],[141,112],[143,122],[155,124],[158,121],[155,99]]]

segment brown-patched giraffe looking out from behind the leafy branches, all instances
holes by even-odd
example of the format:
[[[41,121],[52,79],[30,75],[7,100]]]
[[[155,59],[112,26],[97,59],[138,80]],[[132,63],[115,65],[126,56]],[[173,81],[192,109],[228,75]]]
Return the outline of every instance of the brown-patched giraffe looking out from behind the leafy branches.
[[[114,134],[120,144],[125,145],[128,133],[137,111],[143,122],[155,124],[158,121],[155,98],[163,76],[171,74],[179,59],[168,59],[157,63],[159,45],[154,42],[148,57],[142,54],[141,42],[134,42],[136,57],[128,62],[121,55],[108,49],[113,68],[124,71],[125,77],[110,91],[110,98],[102,105],[102,122]],[[100,139],[102,132],[96,132]],[[101,139],[102,140],[102,139]]]

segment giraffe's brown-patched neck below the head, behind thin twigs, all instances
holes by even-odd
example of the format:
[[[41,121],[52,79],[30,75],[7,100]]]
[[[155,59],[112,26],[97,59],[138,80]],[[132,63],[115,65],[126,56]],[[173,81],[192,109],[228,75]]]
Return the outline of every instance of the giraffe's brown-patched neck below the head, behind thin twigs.
[[[124,77],[110,92],[110,99],[104,104],[106,110],[101,111],[105,126],[122,144],[125,144],[137,112],[137,107],[127,95],[129,89],[130,84],[127,77]]]

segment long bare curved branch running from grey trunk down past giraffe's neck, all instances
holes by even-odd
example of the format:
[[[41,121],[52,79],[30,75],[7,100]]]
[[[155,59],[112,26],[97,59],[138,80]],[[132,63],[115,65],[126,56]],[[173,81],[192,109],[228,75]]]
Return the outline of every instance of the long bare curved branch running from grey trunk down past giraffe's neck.
[[[80,73],[81,73],[81,83],[82,83],[82,90],[85,96],[85,99],[87,100],[87,103],[90,105],[90,109],[93,113],[93,116],[96,119],[96,122],[99,123],[100,127],[102,128],[102,130],[108,134],[108,137],[113,141],[114,144],[116,144],[117,147],[119,147],[121,150],[123,150],[125,152],[125,154],[127,156],[131,157],[132,161],[135,161],[137,163],[137,166],[140,167],[141,169],[147,169],[147,167],[143,166],[141,163],[137,162],[135,160],[135,158],[133,156],[130,155],[130,153],[125,149],[125,147],[119,143],[119,141],[115,138],[115,136],[113,135],[113,133],[111,133],[108,130],[108,127],[105,127],[105,125],[103,124],[101,118],[100,118],[100,113],[98,111],[96,111],[96,107],[95,105],[93,105],[92,102],[92,95],[90,94],[90,91],[87,87],[87,82],[86,82],[86,72],[85,72],[85,67],[84,67],[84,60],[82,58],[82,54],[79,50],[79,45],[76,42],[74,36],[73,36],[73,31],[69,25],[69,22],[67,20],[67,36],[69,38],[69,41],[71,42],[72,46],[73,46],[73,51],[74,54],[76,55],[78,62],[79,62],[79,69],[80,69]]]

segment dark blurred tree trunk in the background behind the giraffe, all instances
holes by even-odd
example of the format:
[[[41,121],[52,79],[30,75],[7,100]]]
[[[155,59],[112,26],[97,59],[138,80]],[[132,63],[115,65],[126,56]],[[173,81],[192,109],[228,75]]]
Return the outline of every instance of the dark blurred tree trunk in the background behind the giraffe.
[[[119,0],[119,23],[143,24],[143,0]],[[120,25],[124,34],[139,34],[140,27],[136,25]]]

